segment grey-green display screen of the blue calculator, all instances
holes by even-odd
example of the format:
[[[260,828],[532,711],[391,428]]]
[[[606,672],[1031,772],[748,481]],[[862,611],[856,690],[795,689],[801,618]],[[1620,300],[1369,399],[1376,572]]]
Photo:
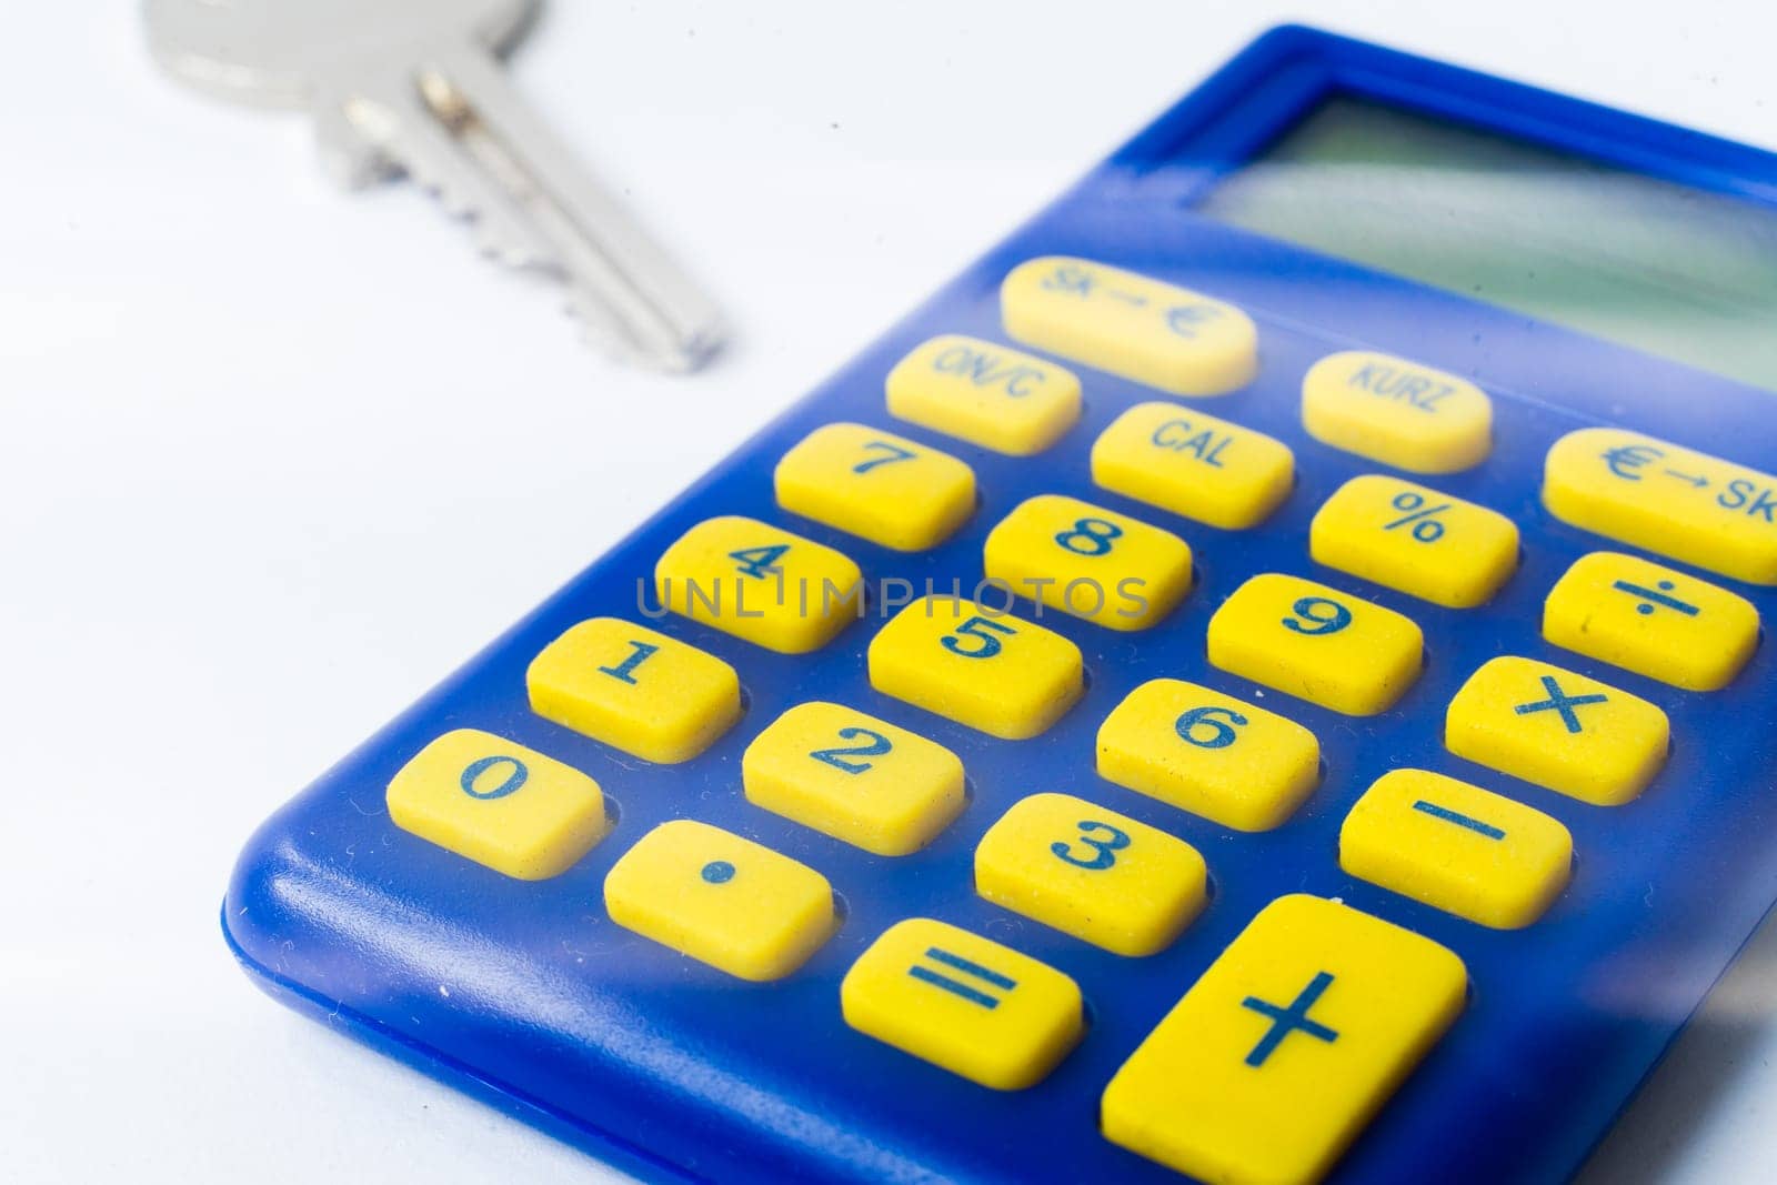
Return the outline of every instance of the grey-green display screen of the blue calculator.
[[[1331,98],[1203,213],[1777,391],[1777,210]]]

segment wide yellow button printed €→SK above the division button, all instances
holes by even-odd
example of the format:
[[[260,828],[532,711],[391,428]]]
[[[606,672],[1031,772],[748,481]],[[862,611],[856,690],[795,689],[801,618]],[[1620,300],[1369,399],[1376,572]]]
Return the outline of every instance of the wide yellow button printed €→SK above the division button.
[[[1542,467],[1566,522],[1752,585],[1777,585],[1777,478],[1621,428],[1569,432]]]

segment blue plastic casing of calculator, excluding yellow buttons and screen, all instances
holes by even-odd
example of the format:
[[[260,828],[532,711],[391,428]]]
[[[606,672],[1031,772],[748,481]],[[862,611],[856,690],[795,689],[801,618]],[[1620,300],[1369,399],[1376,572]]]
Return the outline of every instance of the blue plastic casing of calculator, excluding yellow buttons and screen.
[[[1725,378],[1532,322],[1498,307],[1196,217],[1217,174],[1262,149],[1331,89],[1372,96],[1628,169],[1777,204],[1777,158],[1574,99],[1304,28],[1260,37],[1077,188],[942,288],[837,377],[764,428],[629,540],[386,727],[272,817],[243,853],[224,927],[274,995],[386,1054],[480,1094],[645,1178],[1173,1181],[1098,1135],[1098,1096],[1143,1036],[1271,899],[1342,897],[1455,950],[1471,1000],[1335,1171],[1342,1181],[1551,1180],[1608,1128],[1740,943],[1777,899],[1777,746],[1768,647],[1725,691],[1697,695],[1555,650],[1542,597],[1601,540],[1553,521],[1541,465],[1562,433],[1615,423],[1772,469],[1777,400]],[[1151,389],[1079,368],[1086,412],[1036,460],[1000,457],[892,421],[883,377],[922,339],[1004,339],[999,282],[1040,254],[1075,254],[1185,284],[1247,309],[1260,373],[1214,414],[1297,455],[1299,489],[1263,526],[1224,533],[1093,487],[1088,449]],[[1496,405],[1496,451],[1436,483],[1512,515],[1523,565],[1484,609],[1427,606],[1310,561],[1308,522],[1347,478],[1377,465],[1308,439],[1303,373],[1333,350],[1377,348],[1471,377]],[[1708,407],[1708,416],[1697,409]],[[809,430],[881,425],[963,457],[981,506],[947,544],[890,553],[780,512],[771,469]],[[1068,492],[1183,535],[1199,585],[1139,636],[1045,615],[1080,645],[1089,689],[1034,741],[995,741],[871,689],[878,620],[785,657],[670,618],[656,622],[732,663],[745,720],[704,757],[649,766],[526,709],[524,666],[595,615],[636,616],[638,581],[681,531],[716,513],[782,522],[853,556],[867,577],[947,588],[981,579],[988,529],[1016,503]],[[1093,773],[1093,736],[1137,684],[1167,675],[1251,695],[1208,668],[1205,624],[1258,572],[1295,572],[1400,609],[1427,634],[1429,668],[1390,712],[1354,721],[1278,702],[1324,746],[1326,778],[1285,826],[1231,833]],[[1717,579],[1717,577],[1711,577]],[[1770,618],[1777,593],[1718,581]],[[1031,613],[1020,604],[1020,613]],[[1500,654],[1544,657],[1660,704],[1669,766],[1637,801],[1587,807],[1443,750],[1443,709]],[[963,757],[972,801],[929,849],[880,858],[748,805],[739,755],[793,704],[835,700]],[[485,728],[567,760],[606,789],[620,823],[567,874],[508,879],[389,823],[384,787],[446,728]],[[1571,888],[1530,929],[1498,933],[1351,879],[1336,862],[1345,812],[1384,769],[1422,766],[1530,801],[1571,828]],[[1013,801],[1066,791],[1187,839],[1214,901],[1167,950],[1128,959],[979,899],[970,856]],[[729,979],[611,924],[601,883],[654,824],[697,817],[825,872],[849,906],[839,934],[789,979]],[[1075,977],[1089,1030],[1041,1084],[981,1089],[853,1032],[839,981],[892,922],[928,915],[988,934]],[[448,991],[448,995],[446,995]]]

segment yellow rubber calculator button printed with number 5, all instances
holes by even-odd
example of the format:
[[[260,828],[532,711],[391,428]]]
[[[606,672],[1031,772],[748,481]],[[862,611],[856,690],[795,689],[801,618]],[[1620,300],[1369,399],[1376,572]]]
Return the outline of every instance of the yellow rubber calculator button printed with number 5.
[[[883,695],[1008,741],[1045,732],[1086,691],[1077,645],[960,597],[901,609],[871,640],[869,668]]]

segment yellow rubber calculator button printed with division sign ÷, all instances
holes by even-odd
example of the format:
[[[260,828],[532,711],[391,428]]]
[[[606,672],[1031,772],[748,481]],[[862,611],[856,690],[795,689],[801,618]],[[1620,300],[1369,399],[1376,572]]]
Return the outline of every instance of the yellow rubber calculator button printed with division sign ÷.
[[[1759,611],[1693,576],[1598,551],[1542,602],[1542,636],[1674,688],[1717,691],[1757,648]]]

